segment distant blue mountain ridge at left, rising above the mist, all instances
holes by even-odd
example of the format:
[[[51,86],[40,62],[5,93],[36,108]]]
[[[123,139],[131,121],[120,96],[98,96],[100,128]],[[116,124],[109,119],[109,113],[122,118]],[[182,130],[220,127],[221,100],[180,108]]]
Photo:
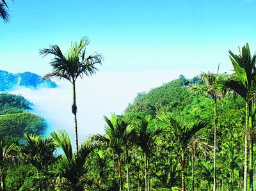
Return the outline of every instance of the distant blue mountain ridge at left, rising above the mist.
[[[31,89],[56,88],[56,83],[51,80],[41,80],[40,75],[31,72],[9,73],[0,70],[0,91],[8,91],[19,86]]]

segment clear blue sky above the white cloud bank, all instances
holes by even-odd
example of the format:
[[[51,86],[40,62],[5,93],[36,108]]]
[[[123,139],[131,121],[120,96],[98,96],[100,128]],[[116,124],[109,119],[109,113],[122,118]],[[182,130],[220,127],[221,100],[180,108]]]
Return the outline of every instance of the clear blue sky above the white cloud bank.
[[[8,0],[7,0],[8,1]],[[0,20],[0,70],[51,71],[38,50],[88,36],[103,72],[232,68],[229,49],[256,49],[256,0],[8,1]]]

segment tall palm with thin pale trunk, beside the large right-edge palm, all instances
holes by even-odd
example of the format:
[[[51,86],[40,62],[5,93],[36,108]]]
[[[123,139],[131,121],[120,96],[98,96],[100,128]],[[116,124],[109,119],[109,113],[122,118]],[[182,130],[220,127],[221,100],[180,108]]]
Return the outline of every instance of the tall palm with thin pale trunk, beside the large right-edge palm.
[[[213,191],[216,190],[216,150],[217,150],[217,125],[218,125],[218,105],[217,100],[225,96],[227,88],[220,86],[223,75],[215,73],[202,73],[204,84],[193,86],[191,89],[197,93],[204,94],[207,98],[214,100],[214,171],[213,171]]]

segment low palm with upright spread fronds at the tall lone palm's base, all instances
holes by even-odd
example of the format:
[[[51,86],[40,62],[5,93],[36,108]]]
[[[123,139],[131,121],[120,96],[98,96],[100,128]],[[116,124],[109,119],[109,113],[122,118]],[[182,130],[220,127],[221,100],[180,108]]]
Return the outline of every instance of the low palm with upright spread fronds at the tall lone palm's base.
[[[61,187],[66,190],[84,190],[85,185],[90,185],[90,181],[86,178],[88,169],[85,163],[97,142],[88,139],[81,144],[76,153],[72,153],[72,146],[67,132],[64,130],[52,132],[51,137],[58,147],[61,148],[64,156],[60,158],[48,179],[54,180],[58,178]]]

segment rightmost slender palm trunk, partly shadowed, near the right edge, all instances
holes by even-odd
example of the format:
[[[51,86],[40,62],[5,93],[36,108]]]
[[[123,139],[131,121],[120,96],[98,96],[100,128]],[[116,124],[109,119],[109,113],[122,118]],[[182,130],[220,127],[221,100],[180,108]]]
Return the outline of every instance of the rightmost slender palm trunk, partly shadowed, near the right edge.
[[[252,116],[251,116],[251,112],[249,114],[249,121],[248,121],[248,127],[249,127],[249,136],[248,136],[248,140],[250,141],[249,143],[249,180],[250,180],[250,191],[253,190],[253,135],[252,135]]]

